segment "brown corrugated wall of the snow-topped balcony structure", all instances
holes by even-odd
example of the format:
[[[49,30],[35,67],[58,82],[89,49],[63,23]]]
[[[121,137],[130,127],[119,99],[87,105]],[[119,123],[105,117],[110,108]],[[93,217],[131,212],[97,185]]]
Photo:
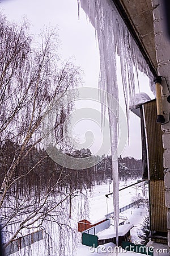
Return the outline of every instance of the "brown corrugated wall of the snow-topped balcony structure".
[[[156,123],[156,100],[143,105],[148,146],[151,232],[167,232],[167,208],[164,198],[162,130]]]

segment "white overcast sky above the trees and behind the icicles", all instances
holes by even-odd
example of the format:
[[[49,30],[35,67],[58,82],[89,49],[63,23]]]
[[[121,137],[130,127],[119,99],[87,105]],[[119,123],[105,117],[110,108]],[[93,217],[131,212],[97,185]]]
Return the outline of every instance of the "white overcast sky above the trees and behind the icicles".
[[[31,34],[39,34],[45,26],[57,27],[61,40],[59,52],[62,59],[71,58],[76,65],[83,69],[84,86],[97,88],[100,60],[99,49],[96,47],[95,30],[87,22],[83,10],[80,10],[80,20],[78,20],[76,0],[1,0],[0,5],[2,13],[7,16],[8,20],[21,23],[25,16],[31,24]],[[145,84],[143,91],[152,97],[147,78],[141,76],[141,81],[143,85]],[[99,104],[90,101],[82,103],[82,106],[88,107],[88,104],[91,108],[100,109]],[[86,126],[91,126],[94,129],[94,146],[90,148],[95,152],[95,148],[100,147],[102,140],[100,129],[97,125],[91,125],[90,121],[83,121],[82,125],[79,123],[76,127],[80,137],[86,131]],[[140,121],[134,114],[130,115],[130,145],[125,148],[122,156],[141,158]]]

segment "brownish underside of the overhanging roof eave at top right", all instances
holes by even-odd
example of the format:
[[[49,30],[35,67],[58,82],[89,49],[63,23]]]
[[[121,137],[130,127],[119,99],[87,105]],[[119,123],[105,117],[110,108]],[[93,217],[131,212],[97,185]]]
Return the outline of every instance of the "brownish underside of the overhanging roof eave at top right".
[[[137,43],[151,72],[156,76],[154,20],[151,0],[112,0]]]

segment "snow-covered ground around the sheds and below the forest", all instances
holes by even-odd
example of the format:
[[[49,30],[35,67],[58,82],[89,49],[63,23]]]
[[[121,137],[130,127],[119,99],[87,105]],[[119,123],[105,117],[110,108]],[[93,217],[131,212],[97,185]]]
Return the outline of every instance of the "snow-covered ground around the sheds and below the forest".
[[[129,185],[129,184],[133,184],[133,183],[135,183],[135,180],[129,180],[129,181],[127,181],[127,184],[125,184],[125,182],[120,182],[120,188],[123,188],[123,187],[125,187],[125,185]],[[142,188],[143,187],[142,187],[142,183],[141,183],[138,185],[133,185],[130,188],[126,188],[126,189],[120,191],[120,208],[124,207],[125,205],[130,204],[131,200],[134,196],[138,196],[139,194],[142,196],[142,193],[143,193]],[[146,195],[147,195],[148,188],[145,187],[145,189],[146,189]],[[88,200],[89,200],[89,205],[90,205],[89,214],[88,214],[89,217],[87,217],[88,221],[96,222],[97,220],[99,220],[101,218],[104,219],[105,214],[107,214],[109,212],[113,212],[113,197],[109,196],[107,199],[107,197],[105,196],[105,194],[108,194],[109,192],[112,192],[112,184],[111,185],[109,185],[109,184],[96,185],[92,192],[88,191]],[[75,197],[74,200],[75,201],[73,203],[76,204],[76,206],[78,208],[80,208],[81,206],[80,206],[78,197]],[[135,240],[139,240],[139,238],[137,236],[139,223],[142,222],[142,220],[146,216],[146,214],[147,214],[147,210],[143,207],[130,208],[130,209],[126,210],[125,212],[120,213],[120,216],[127,217],[128,220],[130,221],[130,223],[134,224],[134,228],[131,229],[132,242],[134,242]],[[100,247],[99,247],[100,249],[98,252],[96,252],[96,251],[92,252],[92,251],[90,251],[90,247],[84,246],[81,244],[81,233],[77,232],[77,230],[76,230],[77,222],[80,220],[79,219],[76,220],[76,217],[74,216],[74,214],[72,214],[72,216],[73,216],[73,218],[72,218],[71,222],[74,226],[76,236],[74,236],[74,238],[71,238],[71,233],[70,233],[70,234],[68,234],[68,236],[70,236],[70,238],[69,239],[66,238],[66,240],[67,240],[67,243],[69,243],[69,240],[70,240],[70,247],[71,247],[72,241],[76,240],[75,245],[74,245],[75,246],[74,251],[76,251],[76,255],[77,256],[79,256],[79,255],[87,256],[87,255],[103,254],[104,252],[101,251],[102,249]],[[70,222],[70,224],[71,224],[71,222]],[[59,256],[59,255],[61,255],[59,253],[59,247],[57,246],[57,240],[60,238],[57,236],[57,232],[56,233],[54,232],[54,230],[57,231],[57,229],[55,229],[54,227],[51,227],[51,228],[52,228],[51,232],[52,232],[53,242],[50,242],[49,245],[48,245],[48,242],[45,241],[45,238],[44,238],[42,241],[35,242],[29,248],[25,247],[24,249],[18,251],[14,255],[15,256],[21,256],[21,255],[25,255],[25,256],[28,256],[28,255]],[[48,233],[49,233],[49,231],[48,231]],[[45,236],[45,233],[44,233],[44,236]],[[62,237],[61,239],[65,239],[65,238]],[[54,241],[56,241],[56,242],[54,242]],[[76,248],[77,243],[78,243],[78,247]],[[53,247],[56,246],[57,249],[54,250],[54,248],[53,248],[50,250],[51,246],[53,246]],[[107,247],[109,248],[109,250],[111,250],[111,248],[112,248],[112,250],[114,251],[114,249],[113,249],[114,246],[115,245],[113,243],[107,244]],[[57,251],[57,250],[58,250],[57,254],[50,253],[50,251]],[[66,250],[69,250],[69,245],[67,246]],[[70,248],[70,251],[71,250],[73,250],[73,249]],[[121,252],[121,254],[122,253],[124,253],[124,252]],[[68,253],[67,253],[67,251],[65,251],[65,256],[67,256],[67,255],[70,255],[69,251],[68,251]],[[104,253],[104,255],[111,255],[111,253],[107,251]],[[112,255],[114,255],[114,254],[112,254]],[[127,252],[126,255],[129,256],[129,255],[131,255],[131,253]],[[137,255],[137,254],[135,254],[135,255]]]

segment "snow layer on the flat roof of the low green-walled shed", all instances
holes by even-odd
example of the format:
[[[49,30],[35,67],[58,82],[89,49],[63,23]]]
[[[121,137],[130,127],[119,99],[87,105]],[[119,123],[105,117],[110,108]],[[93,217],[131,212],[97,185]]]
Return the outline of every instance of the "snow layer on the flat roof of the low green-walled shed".
[[[125,223],[124,225],[118,226],[118,236],[125,236],[125,234],[128,233],[133,226],[133,223]],[[116,237],[116,230],[114,229],[114,226],[111,225],[108,229],[104,229],[103,231],[97,233],[96,236],[99,238],[99,240]]]

